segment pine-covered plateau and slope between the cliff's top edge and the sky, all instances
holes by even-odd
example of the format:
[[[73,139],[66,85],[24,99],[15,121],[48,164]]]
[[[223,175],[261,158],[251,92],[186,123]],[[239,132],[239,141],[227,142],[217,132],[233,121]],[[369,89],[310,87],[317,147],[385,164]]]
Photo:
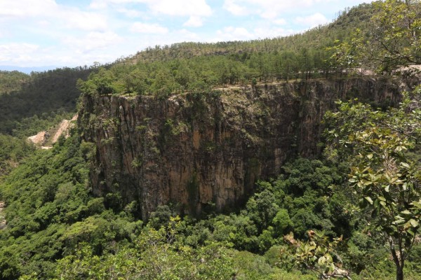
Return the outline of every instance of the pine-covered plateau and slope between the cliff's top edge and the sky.
[[[337,40],[349,38],[356,27],[365,28],[371,10],[362,4],[330,25],[288,37],[148,48],[93,73],[79,88],[86,94],[167,97],[227,85],[342,76],[349,67],[331,59]]]

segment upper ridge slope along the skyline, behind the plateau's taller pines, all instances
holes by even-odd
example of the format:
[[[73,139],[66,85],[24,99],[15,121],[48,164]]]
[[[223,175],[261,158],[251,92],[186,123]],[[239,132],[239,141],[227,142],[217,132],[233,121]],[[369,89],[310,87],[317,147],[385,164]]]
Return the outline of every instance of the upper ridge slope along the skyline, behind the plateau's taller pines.
[[[353,8],[347,8],[328,25],[320,25],[300,34],[263,38],[250,41],[227,41],[218,43],[182,42],[172,45],[156,45],[142,50],[128,61],[154,62],[168,59],[186,59],[203,55],[230,55],[245,52],[293,51],[300,48],[324,48],[333,41],[347,38],[356,28],[363,29],[373,15],[373,6],[362,3]]]

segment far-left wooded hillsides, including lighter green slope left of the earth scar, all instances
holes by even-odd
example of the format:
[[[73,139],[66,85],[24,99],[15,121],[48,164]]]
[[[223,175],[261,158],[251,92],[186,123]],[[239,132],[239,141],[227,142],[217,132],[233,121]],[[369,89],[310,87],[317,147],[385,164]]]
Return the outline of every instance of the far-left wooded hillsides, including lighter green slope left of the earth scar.
[[[76,80],[91,68],[64,68],[30,75],[0,71],[0,176],[34,151],[27,137],[49,130],[76,113]]]

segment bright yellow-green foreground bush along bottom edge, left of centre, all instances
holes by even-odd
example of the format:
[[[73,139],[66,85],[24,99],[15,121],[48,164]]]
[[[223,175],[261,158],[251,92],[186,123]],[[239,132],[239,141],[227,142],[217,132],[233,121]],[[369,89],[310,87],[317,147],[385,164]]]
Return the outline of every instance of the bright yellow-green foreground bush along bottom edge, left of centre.
[[[192,248],[180,242],[180,218],[155,230],[145,228],[134,248],[94,255],[87,244],[59,260],[57,279],[232,279],[232,257],[224,244]]]

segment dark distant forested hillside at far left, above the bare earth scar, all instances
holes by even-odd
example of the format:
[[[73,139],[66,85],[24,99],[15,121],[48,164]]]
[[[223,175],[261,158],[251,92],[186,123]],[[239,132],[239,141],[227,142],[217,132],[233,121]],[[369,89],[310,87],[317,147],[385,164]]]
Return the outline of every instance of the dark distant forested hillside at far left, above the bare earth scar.
[[[61,115],[60,122],[66,113],[74,113],[79,97],[76,80],[86,78],[91,71],[93,68],[81,67],[32,72],[31,75],[2,71],[0,133],[18,136],[25,130],[29,136],[45,130],[46,123],[55,116]]]

